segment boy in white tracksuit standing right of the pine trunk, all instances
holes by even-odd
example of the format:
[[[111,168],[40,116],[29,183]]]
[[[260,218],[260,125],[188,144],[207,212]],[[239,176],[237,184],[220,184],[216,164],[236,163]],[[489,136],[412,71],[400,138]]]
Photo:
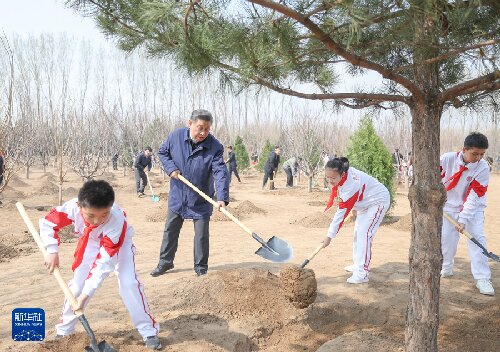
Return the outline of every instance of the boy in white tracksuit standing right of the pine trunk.
[[[486,247],[483,225],[486,190],[490,179],[488,163],[483,159],[486,149],[488,149],[488,139],[483,134],[475,132],[465,138],[462,151],[446,153],[440,158],[441,179],[447,195],[444,211],[459,223],[455,228],[450,222],[443,220],[441,277],[453,275],[454,257],[460,238],[458,232],[467,230]],[[479,292],[494,295],[488,258],[472,241],[467,241],[467,247],[472,276],[476,280]]]

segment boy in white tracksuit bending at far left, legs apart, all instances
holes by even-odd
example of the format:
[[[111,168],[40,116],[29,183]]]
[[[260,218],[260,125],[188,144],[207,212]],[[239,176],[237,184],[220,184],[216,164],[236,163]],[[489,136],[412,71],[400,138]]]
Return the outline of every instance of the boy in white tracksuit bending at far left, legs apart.
[[[49,272],[59,266],[59,230],[73,224],[79,236],[72,265],[74,276],[68,284],[78,306],[71,307],[68,300],[64,301],[57,335],[74,332],[78,318],[73,311],[84,308],[104,279],[115,271],[122,300],[146,347],[161,348],[157,337],[159,324],[151,316],[143,285],[135,272],[134,230],[127,223],[125,212],[114,203],[111,185],[106,181],[86,182],[78,198],[52,209],[39,224]]]

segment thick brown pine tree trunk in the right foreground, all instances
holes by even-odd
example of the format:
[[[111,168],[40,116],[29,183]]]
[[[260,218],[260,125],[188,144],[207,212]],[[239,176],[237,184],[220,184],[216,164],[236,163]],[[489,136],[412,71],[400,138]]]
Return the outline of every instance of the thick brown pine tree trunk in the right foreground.
[[[412,209],[406,314],[408,352],[438,350],[441,224],[446,199],[439,172],[441,109],[434,96],[411,110],[414,178],[408,195]]]

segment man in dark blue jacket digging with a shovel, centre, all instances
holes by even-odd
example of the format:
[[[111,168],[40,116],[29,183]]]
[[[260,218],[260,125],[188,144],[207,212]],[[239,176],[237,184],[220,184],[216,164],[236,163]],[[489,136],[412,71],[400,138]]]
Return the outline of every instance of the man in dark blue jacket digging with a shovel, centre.
[[[213,197],[217,189],[220,210],[229,203],[228,172],[224,164],[224,147],[209,131],[212,114],[195,110],[188,127],[170,133],[158,150],[158,156],[170,179],[168,213],[158,266],[151,276],[159,276],[174,268],[179,233],[184,219],[194,222],[194,271],[198,276],[208,270],[209,231],[212,204],[179,180],[179,174],[191,181],[202,192]]]

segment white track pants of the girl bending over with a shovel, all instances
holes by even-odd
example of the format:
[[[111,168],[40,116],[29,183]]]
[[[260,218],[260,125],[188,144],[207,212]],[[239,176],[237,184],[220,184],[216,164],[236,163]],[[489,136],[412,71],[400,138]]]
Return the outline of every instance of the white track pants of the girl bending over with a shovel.
[[[374,205],[368,209],[358,211],[354,225],[352,260],[354,262],[353,275],[360,279],[368,278],[370,260],[372,259],[373,237],[388,209],[389,203]]]

